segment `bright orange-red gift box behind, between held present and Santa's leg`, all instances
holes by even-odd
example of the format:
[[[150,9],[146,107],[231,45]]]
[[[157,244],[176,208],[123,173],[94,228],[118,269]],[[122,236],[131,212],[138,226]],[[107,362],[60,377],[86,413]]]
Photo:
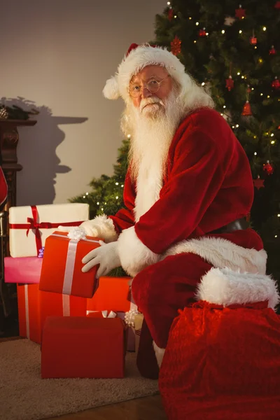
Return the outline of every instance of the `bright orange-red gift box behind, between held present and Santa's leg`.
[[[87,311],[127,312],[137,309],[136,305],[127,299],[130,290],[130,277],[100,277],[99,286],[94,296],[87,299]]]

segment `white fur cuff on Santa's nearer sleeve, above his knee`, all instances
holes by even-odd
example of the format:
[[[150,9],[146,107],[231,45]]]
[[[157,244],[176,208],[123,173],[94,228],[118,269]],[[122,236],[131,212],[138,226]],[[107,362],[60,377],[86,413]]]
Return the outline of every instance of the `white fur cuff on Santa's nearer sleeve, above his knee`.
[[[130,276],[136,276],[142,269],[160,260],[160,255],[151,251],[137,237],[134,226],[120,234],[118,251],[121,265]]]

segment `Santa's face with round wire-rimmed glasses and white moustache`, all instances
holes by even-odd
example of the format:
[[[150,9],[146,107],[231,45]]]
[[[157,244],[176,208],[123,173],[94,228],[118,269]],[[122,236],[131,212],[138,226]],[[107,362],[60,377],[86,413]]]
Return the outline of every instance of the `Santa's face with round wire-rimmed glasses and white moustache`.
[[[146,66],[130,80],[130,97],[134,107],[147,118],[165,113],[165,102],[172,92],[173,83],[162,66]]]

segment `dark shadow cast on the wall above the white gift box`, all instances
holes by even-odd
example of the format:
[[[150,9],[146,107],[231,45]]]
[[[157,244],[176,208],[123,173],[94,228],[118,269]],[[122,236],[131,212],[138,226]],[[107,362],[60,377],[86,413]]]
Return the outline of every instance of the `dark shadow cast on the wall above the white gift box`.
[[[55,200],[56,175],[71,171],[69,166],[60,165],[61,160],[56,155],[57,146],[65,139],[65,133],[59,125],[80,124],[87,118],[52,116],[48,106],[37,106],[35,102],[22,97],[2,98],[1,104],[38,112],[38,115],[30,118],[37,120],[36,125],[18,128],[18,163],[23,169],[18,172],[17,205],[51,204]]]

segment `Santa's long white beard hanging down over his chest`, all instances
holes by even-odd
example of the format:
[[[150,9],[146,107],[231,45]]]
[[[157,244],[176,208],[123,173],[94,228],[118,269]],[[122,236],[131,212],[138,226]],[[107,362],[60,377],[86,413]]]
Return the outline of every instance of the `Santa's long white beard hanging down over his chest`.
[[[148,103],[155,103],[146,106]],[[135,221],[146,213],[160,197],[167,167],[169,147],[178,127],[182,108],[174,91],[162,102],[158,97],[142,99],[139,109],[133,107],[130,162],[132,179],[137,181]]]

